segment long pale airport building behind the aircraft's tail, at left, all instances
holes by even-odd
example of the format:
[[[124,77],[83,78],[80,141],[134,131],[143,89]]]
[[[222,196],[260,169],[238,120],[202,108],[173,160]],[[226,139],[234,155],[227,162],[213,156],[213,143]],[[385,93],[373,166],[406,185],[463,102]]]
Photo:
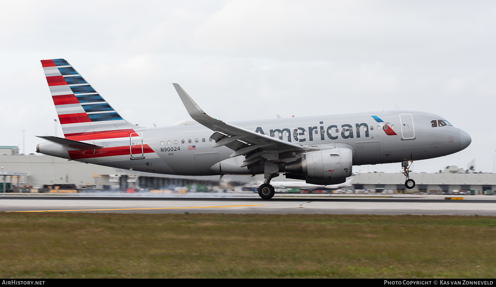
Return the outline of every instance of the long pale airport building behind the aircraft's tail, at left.
[[[191,184],[219,185],[219,176],[181,176],[67,161],[47,155],[0,155],[0,192],[11,187],[74,184],[78,189],[166,189]],[[245,178],[247,176],[244,176]],[[235,179],[236,180],[236,179]]]

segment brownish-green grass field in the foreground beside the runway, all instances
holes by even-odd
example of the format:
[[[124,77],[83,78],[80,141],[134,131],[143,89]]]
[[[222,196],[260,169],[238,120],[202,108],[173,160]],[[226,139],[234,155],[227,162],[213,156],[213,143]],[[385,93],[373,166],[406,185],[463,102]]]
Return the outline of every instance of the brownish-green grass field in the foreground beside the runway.
[[[1,278],[495,278],[496,217],[0,213]]]

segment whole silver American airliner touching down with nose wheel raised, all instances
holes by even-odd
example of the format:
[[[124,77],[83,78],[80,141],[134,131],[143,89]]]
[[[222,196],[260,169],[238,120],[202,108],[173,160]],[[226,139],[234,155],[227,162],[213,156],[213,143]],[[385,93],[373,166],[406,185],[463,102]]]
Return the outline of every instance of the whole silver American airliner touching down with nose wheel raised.
[[[42,60],[64,137],[40,136],[39,153],[96,165],[178,175],[263,174],[263,199],[280,173],[339,184],[354,165],[402,163],[413,188],[413,161],[456,153],[468,133],[416,111],[310,115],[225,122],[207,115],[173,84],[193,120],[146,128],[126,121],[64,59]]]

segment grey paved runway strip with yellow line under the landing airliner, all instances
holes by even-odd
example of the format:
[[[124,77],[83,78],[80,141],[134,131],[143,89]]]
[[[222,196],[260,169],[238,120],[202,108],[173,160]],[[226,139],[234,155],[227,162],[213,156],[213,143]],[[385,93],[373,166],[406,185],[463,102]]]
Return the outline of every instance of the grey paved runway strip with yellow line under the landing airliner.
[[[224,214],[376,214],[496,216],[496,198],[465,196],[137,197],[98,195],[1,195],[2,212],[224,213]],[[469,199],[471,198],[471,199]]]

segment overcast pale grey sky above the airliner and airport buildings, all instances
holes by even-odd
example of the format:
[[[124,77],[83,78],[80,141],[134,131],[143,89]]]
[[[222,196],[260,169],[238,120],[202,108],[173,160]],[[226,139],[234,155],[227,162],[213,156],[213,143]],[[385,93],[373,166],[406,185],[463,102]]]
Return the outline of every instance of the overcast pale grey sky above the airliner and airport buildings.
[[[41,59],[65,58],[128,121],[189,119],[179,83],[225,121],[431,112],[472,136],[418,161],[493,172],[495,1],[0,1],[0,145],[58,118]],[[60,125],[58,135],[62,135]],[[354,167],[398,172],[400,164]]]

